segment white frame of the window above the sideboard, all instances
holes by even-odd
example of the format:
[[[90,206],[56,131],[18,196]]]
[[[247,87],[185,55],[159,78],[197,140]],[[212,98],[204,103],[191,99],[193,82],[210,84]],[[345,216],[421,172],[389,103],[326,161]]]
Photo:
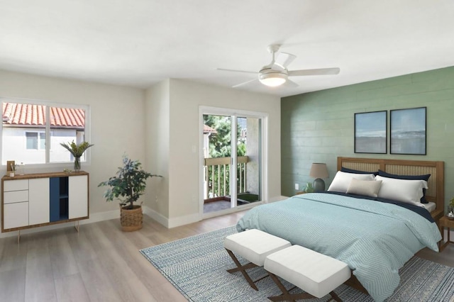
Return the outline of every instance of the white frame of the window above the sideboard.
[[[3,103],[16,103],[16,104],[32,104],[32,105],[41,105],[45,106],[46,111],[45,115],[46,117],[50,116],[50,107],[57,107],[57,108],[77,108],[77,109],[82,109],[85,111],[85,127],[84,127],[84,138],[85,141],[90,142],[90,135],[91,135],[91,128],[90,128],[90,106],[88,104],[66,104],[66,103],[58,103],[58,102],[52,102],[52,101],[45,101],[45,100],[39,100],[39,99],[16,99],[16,98],[5,98],[5,97],[0,97],[0,103],[3,108]],[[43,163],[35,163],[35,164],[27,164],[28,168],[39,168],[39,167],[67,167],[68,169],[72,169],[73,162],[72,161],[65,161],[65,162],[50,162],[50,133],[53,131],[50,129],[50,118],[46,118],[46,125],[45,125],[45,130],[43,131],[46,133],[45,135],[45,162]],[[4,160],[9,160],[9,159],[4,159],[3,158],[3,123],[0,125],[0,130],[1,130],[1,148],[0,148],[0,162],[3,162]],[[38,132],[35,130],[25,130],[26,132]],[[25,137],[25,133],[24,133]],[[39,145],[38,145],[38,150]],[[82,159],[81,159],[82,160]],[[90,149],[87,149],[85,151],[85,160],[82,160],[85,164],[91,164],[91,155],[90,155]],[[2,167],[6,167],[6,164],[1,164]]]

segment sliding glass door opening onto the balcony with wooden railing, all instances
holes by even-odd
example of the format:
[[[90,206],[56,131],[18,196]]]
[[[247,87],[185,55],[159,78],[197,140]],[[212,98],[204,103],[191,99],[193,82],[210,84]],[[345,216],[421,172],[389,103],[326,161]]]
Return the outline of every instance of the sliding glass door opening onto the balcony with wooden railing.
[[[263,118],[201,112],[203,214],[213,216],[261,201]]]

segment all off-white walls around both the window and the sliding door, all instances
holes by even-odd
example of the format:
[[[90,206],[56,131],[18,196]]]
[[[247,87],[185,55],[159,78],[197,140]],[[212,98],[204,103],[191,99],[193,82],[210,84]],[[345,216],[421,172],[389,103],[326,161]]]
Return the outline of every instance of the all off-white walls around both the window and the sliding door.
[[[199,106],[236,108],[267,113],[269,199],[280,196],[280,99],[277,96],[167,79],[150,89],[134,89],[70,79],[41,77],[0,70],[0,96],[42,99],[55,103],[87,104],[91,111],[90,214],[118,211],[106,203],[98,188],[113,176],[126,152],[145,169],[164,178],[150,179],[145,211],[170,227],[192,223],[199,216]],[[196,152],[192,152],[192,146]],[[72,164],[50,165],[31,172],[61,171]],[[0,173],[6,172],[1,167]],[[106,214],[107,215],[107,214]],[[112,216],[110,218],[115,218]],[[92,219],[91,219],[92,220]]]

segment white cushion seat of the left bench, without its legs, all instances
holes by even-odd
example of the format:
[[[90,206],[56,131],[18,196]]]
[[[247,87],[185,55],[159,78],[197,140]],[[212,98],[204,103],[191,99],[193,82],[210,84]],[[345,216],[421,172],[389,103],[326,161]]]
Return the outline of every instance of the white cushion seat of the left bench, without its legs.
[[[227,250],[236,252],[259,267],[263,266],[267,255],[291,245],[287,240],[255,229],[229,235],[224,240]]]

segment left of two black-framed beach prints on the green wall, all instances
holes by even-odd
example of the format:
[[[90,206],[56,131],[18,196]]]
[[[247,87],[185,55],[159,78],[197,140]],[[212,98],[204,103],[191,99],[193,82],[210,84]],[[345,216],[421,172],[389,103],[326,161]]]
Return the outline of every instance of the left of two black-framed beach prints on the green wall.
[[[387,152],[387,111],[355,113],[355,153]]]

